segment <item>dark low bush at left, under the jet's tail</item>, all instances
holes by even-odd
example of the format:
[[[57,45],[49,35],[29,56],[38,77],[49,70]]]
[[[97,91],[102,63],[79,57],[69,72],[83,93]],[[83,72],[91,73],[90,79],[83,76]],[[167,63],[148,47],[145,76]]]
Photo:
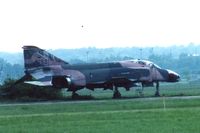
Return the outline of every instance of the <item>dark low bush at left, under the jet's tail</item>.
[[[13,100],[46,100],[61,98],[60,91],[51,87],[38,87],[29,84],[20,83],[15,85],[16,81],[6,79],[0,87],[1,98]]]

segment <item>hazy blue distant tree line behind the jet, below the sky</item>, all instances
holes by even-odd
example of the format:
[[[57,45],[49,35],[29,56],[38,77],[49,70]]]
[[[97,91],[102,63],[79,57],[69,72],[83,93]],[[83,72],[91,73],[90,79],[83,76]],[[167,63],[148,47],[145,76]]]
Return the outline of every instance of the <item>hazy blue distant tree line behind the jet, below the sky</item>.
[[[199,49],[199,50],[198,50]],[[130,59],[150,60],[160,67],[178,72],[182,78],[200,78],[200,46],[154,47],[154,48],[80,48],[48,50],[71,63],[101,63]],[[13,56],[11,56],[13,55]],[[12,59],[10,59],[12,57]],[[0,83],[5,79],[18,79],[24,74],[22,53],[0,53]]]

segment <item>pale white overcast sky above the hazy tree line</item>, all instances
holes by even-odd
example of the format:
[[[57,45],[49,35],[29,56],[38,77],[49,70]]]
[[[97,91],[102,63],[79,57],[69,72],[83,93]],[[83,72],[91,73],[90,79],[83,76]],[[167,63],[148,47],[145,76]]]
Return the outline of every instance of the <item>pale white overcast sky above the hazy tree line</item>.
[[[198,0],[0,0],[0,51],[200,44]]]

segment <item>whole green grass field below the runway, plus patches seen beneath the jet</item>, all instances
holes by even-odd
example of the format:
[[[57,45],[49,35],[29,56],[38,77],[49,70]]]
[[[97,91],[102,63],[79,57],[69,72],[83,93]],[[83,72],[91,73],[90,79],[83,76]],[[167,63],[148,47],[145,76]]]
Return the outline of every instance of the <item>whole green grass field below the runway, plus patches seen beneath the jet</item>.
[[[198,86],[162,86],[165,95],[199,95]],[[83,92],[80,92],[83,93]],[[136,94],[122,92],[125,96]],[[154,89],[146,89],[151,96]],[[93,94],[92,94],[93,95]],[[0,104],[3,133],[198,133],[200,98],[135,98],[112,100],[112,93],[94,93],[97,100],[38,104]],[[104,100],[100,100],[105,96]]]

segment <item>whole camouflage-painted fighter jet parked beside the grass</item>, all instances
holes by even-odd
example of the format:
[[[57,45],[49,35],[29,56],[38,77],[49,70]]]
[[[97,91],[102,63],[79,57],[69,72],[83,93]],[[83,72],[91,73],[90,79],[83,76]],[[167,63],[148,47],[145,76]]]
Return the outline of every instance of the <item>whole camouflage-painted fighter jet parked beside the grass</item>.
[[[121,97],[118,87],[127,91],[136,83],[151,86],[156,83],[159,96],[159,82],[178,82],[180,76],[145,60],[127,60],[110,63],[69,64],[47,51],[35,46],[24,46],[25,83],[67,88],[72,98],[77,90],[104,88],[113,90],[114,98]],[[33,77],[36,81],[29,81]]]

